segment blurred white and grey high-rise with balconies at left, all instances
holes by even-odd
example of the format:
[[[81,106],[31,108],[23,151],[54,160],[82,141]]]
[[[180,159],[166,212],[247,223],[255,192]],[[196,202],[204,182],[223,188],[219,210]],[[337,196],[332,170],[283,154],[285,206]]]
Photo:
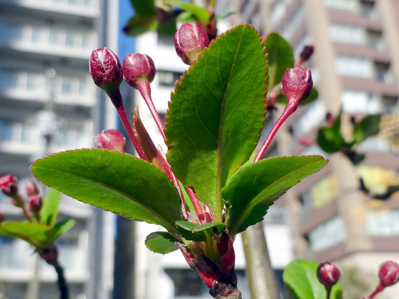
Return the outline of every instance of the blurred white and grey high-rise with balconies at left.
[[[96,133],[115,127],[115,114],[105,114],[108,104],[99,99],[88,61],[93,49],[115,48],[107,32],[116,32],[117,5],[108,0],[0,0],[0,175],[17,176],[22,190],[33,179],[29,166],[35,159],[92,148]],[[20,209],[2,194],[0,211],[7,220],[22,219]],[[70,298],[109,298],[112,216],[63,196],[58,219],[65,218],[76,220],[56,243]],[[105,236],[109,239],[103,242]],[[24,241],[0,236],[0,294],[45,299],[57,293],[53,267]]]

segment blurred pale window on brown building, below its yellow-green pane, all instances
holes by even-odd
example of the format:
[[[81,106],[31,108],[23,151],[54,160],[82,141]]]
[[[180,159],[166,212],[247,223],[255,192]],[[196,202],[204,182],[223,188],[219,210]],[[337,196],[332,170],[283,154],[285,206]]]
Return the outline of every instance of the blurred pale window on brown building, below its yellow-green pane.
[[[314,252],[337,245],[345,238],[345,224],[341,216],[336,216],[309,232],[309,243]]]

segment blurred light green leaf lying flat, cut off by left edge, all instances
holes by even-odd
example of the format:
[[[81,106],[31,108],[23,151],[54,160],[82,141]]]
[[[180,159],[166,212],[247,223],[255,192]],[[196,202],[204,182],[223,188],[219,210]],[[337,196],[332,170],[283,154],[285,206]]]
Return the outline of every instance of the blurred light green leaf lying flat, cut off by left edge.
[[[8,236],[25,240],[35,247],[39,247],[49,243],[49,235],[51,228],[44,224],[20,222],[20,221],[3,221],[0,227],[8,232]]]

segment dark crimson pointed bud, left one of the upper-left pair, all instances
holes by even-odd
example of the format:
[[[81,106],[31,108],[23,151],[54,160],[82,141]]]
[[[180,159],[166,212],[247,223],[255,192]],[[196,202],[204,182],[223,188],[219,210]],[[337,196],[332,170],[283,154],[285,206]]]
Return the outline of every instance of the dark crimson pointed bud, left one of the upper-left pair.
[[[94,83],[112,94],[123,81],[123,71],[118,57],[111,50],[97,49],[91,53],[89,71]]]

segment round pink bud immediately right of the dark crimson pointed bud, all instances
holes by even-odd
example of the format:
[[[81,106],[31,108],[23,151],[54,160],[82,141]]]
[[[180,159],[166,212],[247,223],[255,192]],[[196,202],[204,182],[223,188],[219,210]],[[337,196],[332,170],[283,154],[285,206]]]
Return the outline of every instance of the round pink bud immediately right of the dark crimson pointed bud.
[[[146,54],[129,54],[123,59],[123,75],[134,88],[139,81],[153,82],[155,73],[154,61]]]

